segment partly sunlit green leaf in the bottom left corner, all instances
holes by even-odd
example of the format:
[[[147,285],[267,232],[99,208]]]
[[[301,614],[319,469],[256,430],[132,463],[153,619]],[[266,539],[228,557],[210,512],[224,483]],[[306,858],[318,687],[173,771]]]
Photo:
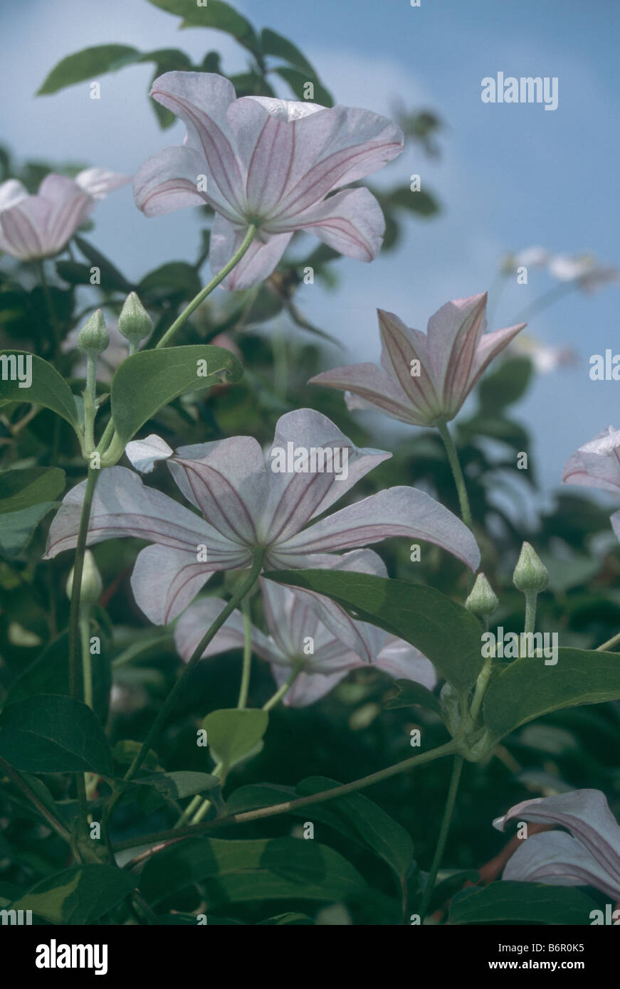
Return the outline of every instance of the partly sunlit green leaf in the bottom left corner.
[[[111,865],[76,865],[47,876],[11,904],[51,924],[93,924],[135,888],[135,878]]]

